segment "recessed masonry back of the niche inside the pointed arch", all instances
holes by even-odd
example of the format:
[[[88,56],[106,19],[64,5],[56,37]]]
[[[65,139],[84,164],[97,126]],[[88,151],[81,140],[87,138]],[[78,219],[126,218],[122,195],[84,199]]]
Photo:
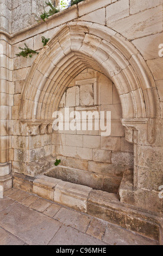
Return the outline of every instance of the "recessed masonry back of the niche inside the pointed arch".
[[[110,111],[111,133],[110,136],[101,136],[100,127],[96,129],[96,118],[93,119],[92,130],[88,125],[86,130],[82,130],[82,124],[88,124],[89,118],[81,118],[78,120],[81,130],[54,131],[52,156],[60,159],[61,163],[45,175],[117,193],[123,173],[133,169],[133,144],[124,138],[121,102],[114,84],[100,72],[85,69],[73,79],[62,96],[58,110],[64,121],[67,120],[65,108],[70,112],[78,111],[80,117],[82,111]]]

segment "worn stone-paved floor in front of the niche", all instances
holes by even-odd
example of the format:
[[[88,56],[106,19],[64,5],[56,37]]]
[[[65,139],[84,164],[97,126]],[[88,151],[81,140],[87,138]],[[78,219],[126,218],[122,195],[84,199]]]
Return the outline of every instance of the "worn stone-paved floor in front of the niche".
[[[16,188],[0,199],[0,245],[158,245],[129,230]]]

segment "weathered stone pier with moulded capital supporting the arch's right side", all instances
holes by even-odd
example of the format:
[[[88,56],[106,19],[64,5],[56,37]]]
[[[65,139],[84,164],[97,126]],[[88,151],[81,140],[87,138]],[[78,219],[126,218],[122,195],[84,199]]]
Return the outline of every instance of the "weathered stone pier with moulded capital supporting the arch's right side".
[[[124,173],[120,186],[123,203],[140,206],[162,214],[162,134],[156,119],[122,119],[126,139],[134,144],[134,173]]]

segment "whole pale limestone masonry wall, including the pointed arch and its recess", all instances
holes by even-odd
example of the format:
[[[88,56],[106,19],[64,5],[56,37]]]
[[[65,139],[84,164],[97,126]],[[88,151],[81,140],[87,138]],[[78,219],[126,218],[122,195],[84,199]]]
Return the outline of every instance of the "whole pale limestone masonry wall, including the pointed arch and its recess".
[[[121,186],[121,201],[162,213],[162,7],[162,0],[85,0],[37,22],[44,0],[0,0],[5,190],[14,172],[35,176],[54,166],[58,156],[73,161],[73,168],[80,164],[87,172],[106,173],[106,184],[114,176],[115,193],[124,172],[133,168],[130,182]],[[51,39],[45,47],[41,36]],[[24,43],[39,54],[17,57]],[[81,86],[76,81],[92,78],[98,79],[100,100],[90,99],[90,106],[111,110],[111,135],[57,134],[51,113],[63,111],[65,100],[70,108],[81,107],[72,104],[72,91]]]

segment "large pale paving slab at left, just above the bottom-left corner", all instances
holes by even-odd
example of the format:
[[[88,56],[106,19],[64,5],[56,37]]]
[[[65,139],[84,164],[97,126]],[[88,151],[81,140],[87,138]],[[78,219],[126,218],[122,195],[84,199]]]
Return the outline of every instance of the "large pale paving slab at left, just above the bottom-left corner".
[[[22,204],[12,204],[0,212],[1,227],[28,245],[47,245],[61,224]]]

